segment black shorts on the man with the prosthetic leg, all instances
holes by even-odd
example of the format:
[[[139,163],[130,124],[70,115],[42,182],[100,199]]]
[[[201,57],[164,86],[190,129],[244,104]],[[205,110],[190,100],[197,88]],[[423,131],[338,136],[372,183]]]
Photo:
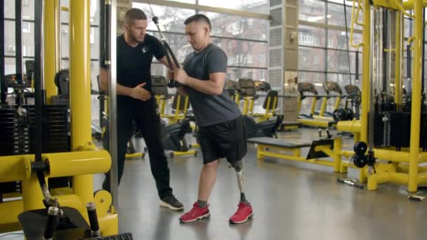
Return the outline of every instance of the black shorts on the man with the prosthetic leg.
[[[243,116],[221,124],[199,127],[197,138],[202,148],[203,164],[224,157],[233,163],[247,154]]]

